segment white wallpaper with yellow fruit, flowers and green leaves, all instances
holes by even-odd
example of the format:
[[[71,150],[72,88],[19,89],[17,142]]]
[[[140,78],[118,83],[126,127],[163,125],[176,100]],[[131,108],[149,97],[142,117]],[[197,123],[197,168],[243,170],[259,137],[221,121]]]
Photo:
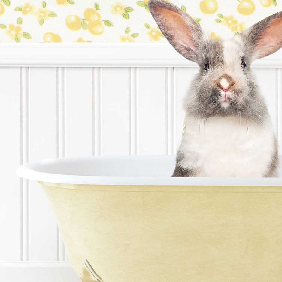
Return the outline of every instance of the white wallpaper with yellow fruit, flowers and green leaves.
[[[211,37],[224,39],[282,10],[282,0],[171,2],[190,14]],[[0,42],[166,42],[147,3],[1,0]]]

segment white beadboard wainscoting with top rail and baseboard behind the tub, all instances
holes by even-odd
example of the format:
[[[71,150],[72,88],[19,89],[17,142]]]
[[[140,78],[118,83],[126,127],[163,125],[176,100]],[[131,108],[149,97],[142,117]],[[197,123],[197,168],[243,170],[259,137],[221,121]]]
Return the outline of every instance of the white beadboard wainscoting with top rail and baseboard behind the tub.
[[[175,154],[197,65],[169,44],[0,47],[0,281],[79,281],[43,191],[16,168],[65,156]],[[282,52],[253,67],[281,154]]]

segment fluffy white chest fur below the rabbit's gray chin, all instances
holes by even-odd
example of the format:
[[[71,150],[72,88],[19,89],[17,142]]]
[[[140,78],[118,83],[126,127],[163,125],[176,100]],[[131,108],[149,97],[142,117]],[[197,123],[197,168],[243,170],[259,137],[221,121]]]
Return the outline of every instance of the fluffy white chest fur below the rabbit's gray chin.
[[[197,177],[262,177],[274,151],[271,127],[234,117],[187,118],[179,165]]]

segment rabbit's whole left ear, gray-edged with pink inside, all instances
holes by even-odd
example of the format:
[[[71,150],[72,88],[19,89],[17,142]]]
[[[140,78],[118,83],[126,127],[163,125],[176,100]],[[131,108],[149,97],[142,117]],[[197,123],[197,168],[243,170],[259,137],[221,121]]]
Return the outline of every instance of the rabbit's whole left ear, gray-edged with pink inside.
[[[172,3],[150,0],[148,7],[162,34],[177,52],[199,63],[200,47],[209,39],[199,24]]]

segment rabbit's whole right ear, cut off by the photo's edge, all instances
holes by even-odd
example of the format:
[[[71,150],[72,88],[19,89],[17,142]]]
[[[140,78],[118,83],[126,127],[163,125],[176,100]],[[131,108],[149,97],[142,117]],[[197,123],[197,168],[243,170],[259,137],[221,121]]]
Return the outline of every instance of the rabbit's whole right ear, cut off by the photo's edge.
[[[271,55],[282,47],[282,12],[255,23],[238,38],[247,47],[252,60]]]

